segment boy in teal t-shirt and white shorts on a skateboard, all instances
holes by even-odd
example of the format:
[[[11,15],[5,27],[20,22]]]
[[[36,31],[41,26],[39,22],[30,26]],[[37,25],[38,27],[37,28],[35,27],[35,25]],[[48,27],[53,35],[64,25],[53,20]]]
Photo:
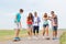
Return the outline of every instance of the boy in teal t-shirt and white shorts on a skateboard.
[[[23,9],[20,9],[20,12],[15,15],[15,37],[14,41],[20,41],[19,33],[21,29],[21,13],[23,13]]]

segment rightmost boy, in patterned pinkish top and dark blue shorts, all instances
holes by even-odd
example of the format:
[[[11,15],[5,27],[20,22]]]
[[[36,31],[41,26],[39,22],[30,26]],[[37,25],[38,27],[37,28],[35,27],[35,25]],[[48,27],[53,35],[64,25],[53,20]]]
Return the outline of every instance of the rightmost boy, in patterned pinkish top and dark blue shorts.
[[[54,11],[51,11],[51,19],[52,19],[52,28],[53,28],[53,40],[56,40],[57,37],[57,15],[54,13]]]

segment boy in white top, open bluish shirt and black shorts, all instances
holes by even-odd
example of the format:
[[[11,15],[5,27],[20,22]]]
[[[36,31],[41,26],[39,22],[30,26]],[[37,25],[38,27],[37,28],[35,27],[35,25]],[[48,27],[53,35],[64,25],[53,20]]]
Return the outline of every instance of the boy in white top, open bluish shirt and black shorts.
[[[36,32],[36,35],[38,35],[38,28],[40,28],[40,18],[37,16],[37,13],[34,12],[34,16],[33,16],[33,33],[35,35],[35,32]]]

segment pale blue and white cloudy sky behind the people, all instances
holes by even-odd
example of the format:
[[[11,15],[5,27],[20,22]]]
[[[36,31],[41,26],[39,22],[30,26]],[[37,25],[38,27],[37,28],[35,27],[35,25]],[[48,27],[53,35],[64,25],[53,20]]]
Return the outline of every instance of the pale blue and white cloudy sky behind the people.
[[[48,15],[51,15],[51,11],[55,11],[55,14],[58,16],[58,29],[66,29],[65,0],[0,0],[0,30],[14,29],[14,16],[19,12],[19,9],[24,10],[23,14],[21,15],[22,28],[26,29],[26,16],[29,12],[37,12],[37,15],[41,18],[40,26],[42,28],[43,13],[46,12]]]

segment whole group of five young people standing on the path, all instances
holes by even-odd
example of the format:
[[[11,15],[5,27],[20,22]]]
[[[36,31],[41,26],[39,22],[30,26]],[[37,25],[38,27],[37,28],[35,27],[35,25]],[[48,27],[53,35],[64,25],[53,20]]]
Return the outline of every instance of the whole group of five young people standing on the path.
[[[20,33],[20,29],[21,29],[21,13],[23,13],[23,9],[20,9],[20,12],[15,15],[15,37],[14,41],[20,41],[19,37],[19,33]],[[53,28],[53,40],[57,38],[57,15],[54,13],[54,11],[51,11],[52,16],[48,16],[47,13],[43,14],[43,38],[44,35],[46,33],[46,38],[50,40],[48,37],[48,20],[52,22],[52,28]],[[26,18],[26,24],[28,24],[28,34],[30,37],[32,37],[32,33],[34,35],[34,37],[38,36],[38,32],[40,32],[40,22],[41,19],[37,15],[37,12],[34,12],[34,15],[32,14],[32,12],[29,13],[28,18]]]

